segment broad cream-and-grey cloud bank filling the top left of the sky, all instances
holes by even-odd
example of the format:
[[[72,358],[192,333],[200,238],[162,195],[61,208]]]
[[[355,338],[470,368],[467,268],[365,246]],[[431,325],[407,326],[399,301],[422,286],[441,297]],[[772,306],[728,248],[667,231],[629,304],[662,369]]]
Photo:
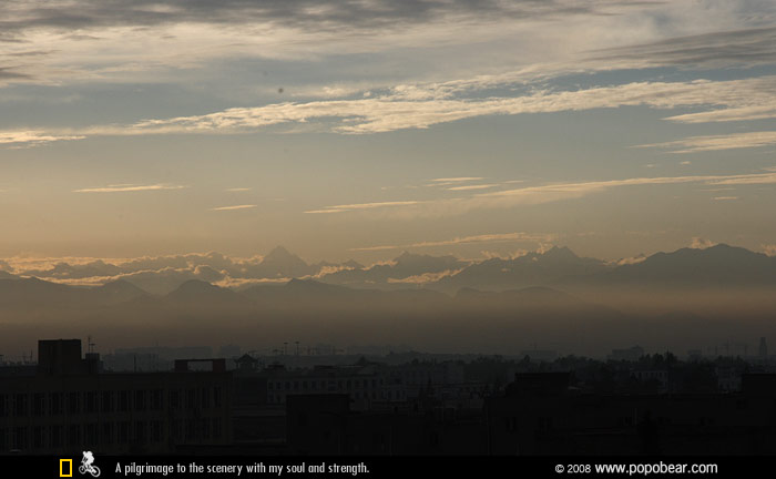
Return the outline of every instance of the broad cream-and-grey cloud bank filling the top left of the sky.
[[[460,42],[458,30],[469,33],[467,40],[492,38],[504,34],[493,23],[605,18],[598,13],[615,9],[633,10],[626,1],[573,0],[9,0],[0,2],[0,42],[62,50],[47,63],[25,65],[39,82],[93,81],[116,72],[201,67],[214,58],[308,59],[320,51],[428,48]],[[118,81],[126,83],[126,75]],[[339,83],[306,90],[347,93]]]

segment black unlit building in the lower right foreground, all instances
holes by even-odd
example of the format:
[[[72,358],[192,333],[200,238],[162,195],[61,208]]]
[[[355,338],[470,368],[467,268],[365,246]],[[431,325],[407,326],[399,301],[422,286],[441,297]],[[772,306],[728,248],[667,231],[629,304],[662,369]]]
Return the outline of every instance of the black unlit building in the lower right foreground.
[[[489,453],[776,453],[776,375],[744,375],[739,394],[585,394],[568,378],[518,374],[489,398]]]

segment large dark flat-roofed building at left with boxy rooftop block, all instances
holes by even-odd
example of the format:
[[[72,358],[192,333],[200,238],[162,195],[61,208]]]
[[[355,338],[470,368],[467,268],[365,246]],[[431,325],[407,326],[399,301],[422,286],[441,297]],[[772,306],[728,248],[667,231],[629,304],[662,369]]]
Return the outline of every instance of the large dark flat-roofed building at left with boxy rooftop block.
[[[0,451],[174,452],[231,441],[231,373],[103,374],[79,339],[39,342],[35,375],[0,378]]]

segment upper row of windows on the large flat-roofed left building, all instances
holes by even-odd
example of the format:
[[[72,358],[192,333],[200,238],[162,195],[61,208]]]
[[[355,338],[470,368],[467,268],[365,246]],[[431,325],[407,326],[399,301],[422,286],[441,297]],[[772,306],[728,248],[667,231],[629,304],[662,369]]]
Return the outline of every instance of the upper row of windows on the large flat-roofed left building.
[[[0,395],[0,417],[162,410],[165,399],[171,409],[219,408],[223,394],[222,388],[214,387],[170,391],[136,389]]]

